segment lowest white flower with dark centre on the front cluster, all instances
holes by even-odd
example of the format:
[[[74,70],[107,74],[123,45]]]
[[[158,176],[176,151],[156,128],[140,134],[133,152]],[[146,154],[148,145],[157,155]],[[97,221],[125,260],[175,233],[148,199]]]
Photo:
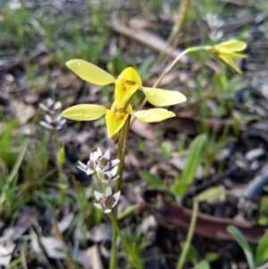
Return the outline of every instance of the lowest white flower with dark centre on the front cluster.
[[[114,206],[119,201],[120,191],[113,194],[111,187],[107,187],[105,194],[94,191],[94,196],[98,203],[95,203],[96,208],[104,210],[105,214],[111,213]]]

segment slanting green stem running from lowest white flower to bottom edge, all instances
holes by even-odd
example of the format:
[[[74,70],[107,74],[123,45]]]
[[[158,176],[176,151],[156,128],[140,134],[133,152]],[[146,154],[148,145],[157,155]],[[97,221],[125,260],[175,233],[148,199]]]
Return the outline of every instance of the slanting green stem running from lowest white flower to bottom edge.
[[[135,254],[135,252],[132,251],[132,249],[130,248],[130,245],[128,244],[128,242],[124,239],[120,227],[118,226],[117,220],[114,217],[113,213],[108,214],[109,218],[111,220],[111,223],[113,225],[113,230],[116,231],[116,234],[120,237],[121,239],[121,243],[123,245],[123,247],[125,248],[128,257],[130,258],[130,263],[137,269],[142,269],[142,264],[140,261],[140,258]]]

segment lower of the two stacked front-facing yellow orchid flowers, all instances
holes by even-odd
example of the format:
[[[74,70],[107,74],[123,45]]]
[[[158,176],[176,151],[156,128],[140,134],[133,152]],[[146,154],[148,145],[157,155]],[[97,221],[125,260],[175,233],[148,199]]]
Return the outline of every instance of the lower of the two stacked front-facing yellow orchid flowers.
[[[118,109],[115,101],[111,109],[103,105],[81,104],[71,106],[62,113],[63,117],[74,121],[94,121],[104,114],[109,138],[121,130],[130,114],[141,122],[161,122],[175,116],[175,113],[163,108],[152,108],[133,113],[131,105],[128,105],[127,109]]]

